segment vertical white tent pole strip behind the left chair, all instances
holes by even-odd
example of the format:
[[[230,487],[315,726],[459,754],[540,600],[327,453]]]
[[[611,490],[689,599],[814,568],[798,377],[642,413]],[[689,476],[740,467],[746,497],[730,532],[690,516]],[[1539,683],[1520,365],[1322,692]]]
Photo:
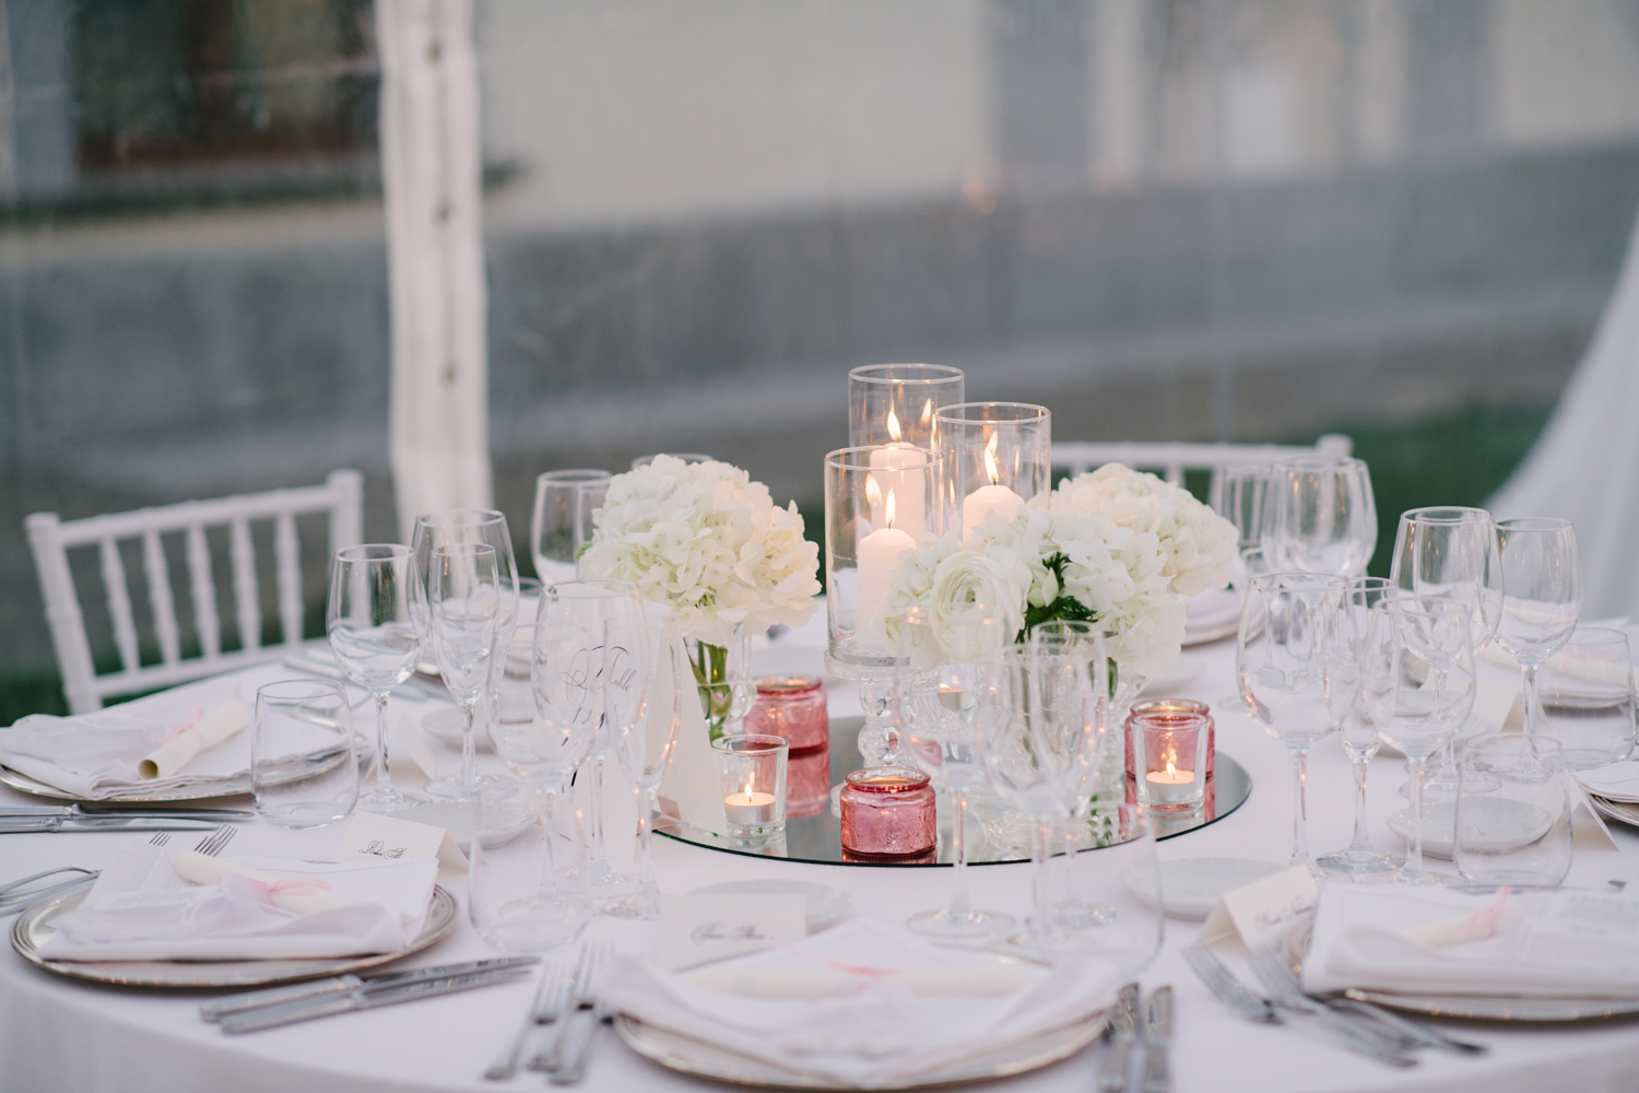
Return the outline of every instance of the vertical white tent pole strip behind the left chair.
[[[470,0],[377,0],[398,524],[488,508],[488,346]]]

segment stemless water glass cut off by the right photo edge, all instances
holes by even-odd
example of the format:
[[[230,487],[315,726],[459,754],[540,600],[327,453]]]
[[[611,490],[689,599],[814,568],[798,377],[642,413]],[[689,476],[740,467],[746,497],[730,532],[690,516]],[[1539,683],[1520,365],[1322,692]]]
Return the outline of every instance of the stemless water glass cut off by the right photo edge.
[[[1578,626],[1537,677],[1541,731],[1570,770],[1591,770],[1634,749],[1634,670],[1628,634]]]

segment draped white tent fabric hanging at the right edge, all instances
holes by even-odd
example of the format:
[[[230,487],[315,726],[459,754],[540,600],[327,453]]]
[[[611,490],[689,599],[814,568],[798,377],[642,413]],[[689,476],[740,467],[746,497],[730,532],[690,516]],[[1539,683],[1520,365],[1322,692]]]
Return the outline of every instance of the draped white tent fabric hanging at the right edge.
[[[1639,221],[1588,352],[1488,508],[1573,521],[1583,618],[1639,618]]]

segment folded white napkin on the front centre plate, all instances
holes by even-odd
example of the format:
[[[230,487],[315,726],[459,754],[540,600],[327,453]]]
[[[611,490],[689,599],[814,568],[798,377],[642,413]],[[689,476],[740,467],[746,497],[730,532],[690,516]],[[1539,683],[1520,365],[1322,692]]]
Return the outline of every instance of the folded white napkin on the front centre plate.
[[[1001,995],[924,995],[915,980],[893,975],[995,967],[993,957],[939,949],[900,926],[854,918],[793,946],[711,965],[705,982],[697,980],[701,972],[672,975],[623,960],[605,1000],[646,1024],[856,1088],[901,1083],[1082,1023],[1115,1001],[1116,970],[1096,957],[1023,967],[1021,985]],[[705,985],[736,975],[767,982],[765,973],[779,972],[823,993],[747,996]],[[820,982],[815,972],[844,975]]]

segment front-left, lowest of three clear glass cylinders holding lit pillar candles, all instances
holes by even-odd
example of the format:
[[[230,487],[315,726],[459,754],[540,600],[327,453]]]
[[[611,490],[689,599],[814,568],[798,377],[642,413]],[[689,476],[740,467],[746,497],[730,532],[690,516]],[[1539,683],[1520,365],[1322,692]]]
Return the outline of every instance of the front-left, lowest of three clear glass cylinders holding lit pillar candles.
[[[824,457],[828,667],[892,669],[882,631],[888,574],[900,556],[939,536],[942,460],[893,444],[841,447]],[[857,678],[857,677],[856,677]]]

